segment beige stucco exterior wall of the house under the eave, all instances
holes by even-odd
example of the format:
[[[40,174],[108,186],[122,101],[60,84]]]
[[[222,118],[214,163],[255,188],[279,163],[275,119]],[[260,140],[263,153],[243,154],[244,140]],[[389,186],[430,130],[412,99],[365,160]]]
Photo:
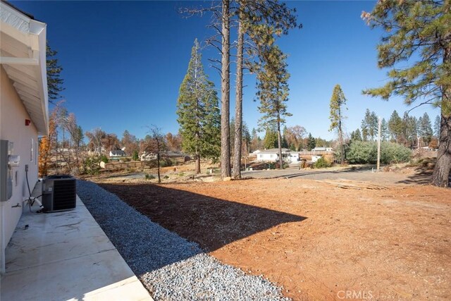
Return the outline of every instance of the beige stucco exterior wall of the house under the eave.
[[[14,142],[14,154],[20,156],[20,166],[12,168],[13,196],[8,202],[0,202],[0,235],[1,242],[3,242],[1,247],[6,247],[22,211],[27,209],[23,205],[23,200],[28,197],[25,164],[29,166],[28,180],[31,190],[37,182],[37,152],[35,151],[37,147],[37,129],[33,123],[25,126],[25,119],[31,118],[20,101],[3,66],[0,69],[0,139]],[[33,154],[31,158],[32,140]],[[12,206],[16,204],[20,204],[21,207],[13,208]]]

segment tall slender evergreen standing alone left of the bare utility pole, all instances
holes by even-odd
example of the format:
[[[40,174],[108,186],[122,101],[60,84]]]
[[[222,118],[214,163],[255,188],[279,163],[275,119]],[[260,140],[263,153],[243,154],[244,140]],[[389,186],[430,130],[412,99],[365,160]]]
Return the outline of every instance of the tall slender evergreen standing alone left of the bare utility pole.
[[[345,115],[343,114],[343,109],[347,109],[346,107],[346,97],[343,91],[341,90],[340,85],[335,85],[333,88],[332,98],[330,98],[330,128],[329,130],[337,130],[338,132],[338,140],[340,143],[340,155],[341,155],[341,164],[345,163],[345,142],[343,141],[343,120],[345,119]]]

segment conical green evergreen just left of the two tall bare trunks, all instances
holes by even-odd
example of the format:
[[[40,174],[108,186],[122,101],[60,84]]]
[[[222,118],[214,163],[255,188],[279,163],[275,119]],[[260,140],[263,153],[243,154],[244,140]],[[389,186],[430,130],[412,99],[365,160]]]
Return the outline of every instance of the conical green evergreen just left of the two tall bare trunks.
[[[220,115],[218,97],[214,84],[204,73],[197,39],[192,47],[187,73],[180,85],[177,114],[183,150],[194,155],[196,173],[200,173],[201,157],[218,157]]]

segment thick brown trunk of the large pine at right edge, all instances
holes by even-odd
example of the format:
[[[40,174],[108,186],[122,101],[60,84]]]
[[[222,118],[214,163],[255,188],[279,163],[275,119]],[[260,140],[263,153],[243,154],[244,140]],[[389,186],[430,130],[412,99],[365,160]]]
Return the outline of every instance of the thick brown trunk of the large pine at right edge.
[[[443,100],[443,102],[444,101],[445,100]],[[448,102],[450,101],[448,100]],[[451,172],[451,115],[445,116],[442,113],[442,118],[440,121],[440,140],[438,145],[437,163],[435,163],[435,168],[432,173],[431,184],[439,187],[449,187],[450,172]]]

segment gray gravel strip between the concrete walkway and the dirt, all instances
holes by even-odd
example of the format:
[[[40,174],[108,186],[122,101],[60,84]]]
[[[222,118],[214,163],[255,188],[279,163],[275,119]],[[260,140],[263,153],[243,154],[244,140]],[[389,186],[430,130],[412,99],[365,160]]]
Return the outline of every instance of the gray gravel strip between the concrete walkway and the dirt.
[[[155,300],[289,300],[261,276],[221,264],[95,183],[77,194]]]

